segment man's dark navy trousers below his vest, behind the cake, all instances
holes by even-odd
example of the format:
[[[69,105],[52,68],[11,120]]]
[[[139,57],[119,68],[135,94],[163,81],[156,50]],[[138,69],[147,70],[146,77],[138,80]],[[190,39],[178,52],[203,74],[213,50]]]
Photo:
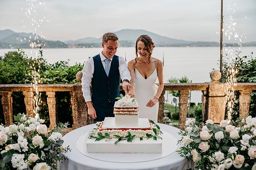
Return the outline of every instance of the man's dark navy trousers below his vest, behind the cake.
[[[100,105],[93,104],[93,107],[96,111],[97,118],[93,120],[95,122],[101,122],[105,117],[114,117],[114,105],[111,102],[108,102],[106,107],[102,107]]]

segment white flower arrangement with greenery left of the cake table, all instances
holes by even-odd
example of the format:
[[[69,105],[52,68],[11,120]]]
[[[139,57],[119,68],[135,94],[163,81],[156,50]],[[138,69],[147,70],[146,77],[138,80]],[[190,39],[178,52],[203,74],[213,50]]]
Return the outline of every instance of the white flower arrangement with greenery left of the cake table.
[[[0,169],[1,170],[57,170],[57,162],[64,161],[62,153],[69,146],[62,146],[62,129],[58,126],[47,133],[44,120],[27,115],[14,116],[16,124],[0,125]]]

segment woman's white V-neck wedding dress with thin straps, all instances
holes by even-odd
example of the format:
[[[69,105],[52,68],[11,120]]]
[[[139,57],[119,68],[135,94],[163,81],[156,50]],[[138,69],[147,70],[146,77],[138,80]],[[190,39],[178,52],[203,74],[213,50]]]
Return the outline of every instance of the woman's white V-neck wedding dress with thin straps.
[[[157,121],[159,103],[157,102],[153,107],[146,107],[148,101],[157,94],[158,86],[155,85],[156,80],[157,68],[147,79],[135,68],[135,98],[139,104],[139,118],[149,118],[150,120]]]

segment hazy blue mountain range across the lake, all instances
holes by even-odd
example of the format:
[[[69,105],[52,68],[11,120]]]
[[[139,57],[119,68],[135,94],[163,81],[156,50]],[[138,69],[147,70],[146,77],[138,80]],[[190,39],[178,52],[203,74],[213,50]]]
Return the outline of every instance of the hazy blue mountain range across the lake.
[[[119,46],[134,47],[135,41],[139,35],[149,35],[158,47],[196,47],[196,46],[219,46],[214,41],[185,41],[182,39],[173,39],[161,36],[141,29],[122,29],[113,32],[119,37]],[[36,39],[36,40],[35,40]],[[85,37],[76,40],[53,41],[47,40],[33,33],[16,33],[9,29],[0,30],[0,48],[30,48],[30,42],[35,41],[34,46],[43,46],[44,48],[94,48],[101,47],[102,37]],[[233,44],[226,44],[231,45]],[[243,46],[256,46],[256,41],[242,44]]]

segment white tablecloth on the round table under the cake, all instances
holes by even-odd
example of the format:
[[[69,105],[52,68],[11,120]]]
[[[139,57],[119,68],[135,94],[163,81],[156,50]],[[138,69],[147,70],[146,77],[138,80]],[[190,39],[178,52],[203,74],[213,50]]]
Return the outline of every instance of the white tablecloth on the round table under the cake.
[[[165,124],[158,124],[161,130],[166,131],[176,137],[178,140],[179,129]],[[137,162],[137,163],[115,163],[93,159],[83,155],[76,148],[76,140],[85,133],[93,129],[95,124],[83,126],[67,133],[64,139],[64,146],[70,146],[71,152],[64,155],[68,159],[64,163],[59,164],[59,170],[184,170],[191,167],[185,157],[180,157],[174,152],[167,157],[152,161]]]

